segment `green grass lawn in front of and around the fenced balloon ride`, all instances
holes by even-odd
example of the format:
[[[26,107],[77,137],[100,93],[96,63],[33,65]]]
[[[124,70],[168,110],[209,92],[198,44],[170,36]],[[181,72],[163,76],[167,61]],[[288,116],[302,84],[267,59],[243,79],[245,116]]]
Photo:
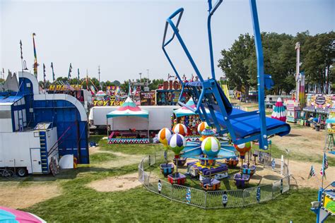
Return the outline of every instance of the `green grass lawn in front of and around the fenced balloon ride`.
[[[101,138],[102,136],[94,136],[90,140],[96,140],[102,150],[106,151],[147,155],[163,150],[159,145],[107,145]],[[276,155],[280,152],[276,146],[273,151]],[[107,154],[107,152],[95,153],[90,156],[90,160],[100,162],[115,159],[114,155]],[[310,202],[317,200],[317,190],[308,188],[291,190],[275,200],[259,205],[203,210],[172,202],[147,191],[142,186],[122,192],[98,192],[87,186],[91,181],[105,179],[108,176],[136,172],[137,166],[138,164],[132,164],[107,169],[79,165],[78,169],[63,170],[56,177],[42,177],[42,181],[46,183],[48,181],[59,183],[62,194],[25,208],[25,211],[32,212],[47,222],[289,222],[290,220],[315,222],[315,215],[310,211]],[[151,169],[155,173],[159,172],[157,166]],[[33,183],[40,178],[40,176],[29,176],[23,183]],[[199,186],[199,181],[188,179],[188,183],[190,186]]]

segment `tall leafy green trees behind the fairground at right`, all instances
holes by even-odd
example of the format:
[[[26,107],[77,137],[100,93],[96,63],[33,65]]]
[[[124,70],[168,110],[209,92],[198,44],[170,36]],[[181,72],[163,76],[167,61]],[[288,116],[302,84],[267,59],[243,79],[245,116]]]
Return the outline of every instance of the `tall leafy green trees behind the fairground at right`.
[[[310,35],[308,31],[297,35],[276,32],[262,32],[264,73],[271,74],[274,88],[269,94],[281,95],[295,89],[295,43],[300,42],[300,72],[305,72],[305,84],[317,85],[325,93],[329,83],[334,83],[334,40],[335,32]],[[257,89],[257,57],[254,37],[248,33],[240,35],[230,49],[221,51],[218,60],[230,88],[245,90],[245,97],[251,88]],[[334,90],[334,85],[332,86]]]

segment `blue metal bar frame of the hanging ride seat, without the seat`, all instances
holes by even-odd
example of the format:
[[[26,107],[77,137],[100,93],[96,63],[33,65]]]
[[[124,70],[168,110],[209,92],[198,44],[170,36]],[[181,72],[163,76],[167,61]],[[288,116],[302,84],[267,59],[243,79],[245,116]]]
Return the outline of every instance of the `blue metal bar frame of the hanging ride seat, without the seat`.
[[[209,80],[204,80],[201,76],[201,73],[199,69],[197,68],[196,64],[194,63],[194,60],[192,59],[191,54],[189,54],[189,50],[187,49],[186,45],[184,44],[184,41],[182,40],[182,37],[180,36],[178,26],[180,24],[180,20],[182,18],[182,14],[184,12],[184,8],[179,8],[175,13],[172,13],[172,15],[167,18],[165,23],[165,31],[164,31],[164,37],[163,37],[163,44],[162,49],[167,57],[167,61],[169,61],[170,65],[172,66],[173,71],[175,72],[177,78],[180,80],[180,83],[182,83],[182,92],[184,92],[185,88],[191,88],[193,92],[194,102],[196,103],[196,109],[192,109],[191,107],[188,107],[186,104],[180,102],[179,104],[182,106],[187,107],[188,109],[194,111],[196,114],[199,114],[201,119],[206,120],[208,124],[215,125],[218,129],[218,133],[230,133],[230,136],[233,140],[233,143],[240,144],[240,143],[246,143],[251,140],[259,140],[259,148],[261,149],[267,149],[268,148],[268,135],[272,135],[276,133],[275,130],[266,130],[266,117],[265,117],[265,106],[264,106],[264,76],[266,78],[271,79],[271,76],[264,75],[264,57],[263,57],[263,51],[262,51],[262,45],[261,45],[261,33],[259,29],[259,20],[257,15],[257,5],[255,0],[249,0],[250,9],[252,13],[252,23],[254,28],[254,39],[255,39],[255,46],[256,46],[256,52],[257,52],[257,81],[258,81],[258,92],[259,92],[259,111],[252,111],[244,114],[235,114],[232,116],[229,116],[228,112],[225,109],[225,105],[223,103],[223,100],[221,99],[221,94],[218,91],[218,86],[216,83],[215,78],[215,72],[214,72],[214,63],[213,63],[213,44],[212,44],[212,38],[211,38],[211,16],[213,16],[213,13],[216,11],[218,6],[222,3],[223,0],[216,1],[216,4],[212,6],[211,0],[208,0],[208,20],[207,20],[207,29],[208,29],[208,44],[209,44],[209,52],[210,52],[210,60],[211,60],[211,75],[212,78]],[[175,16],[178,16],[177,23],[173,23],[172,19],[175,18]],[[170,25],[172,28],[173,34],[170,40],[165,42],[166,34],[167,34],[167,28]],[[177,72],[177,69],[175,68],[174,64],[172,63],[172,60],[170,59],[170,56],[168,56],[165,47],[172,42],[172,40],[177,37],[177,40],[180,42],[180,45],[182,46],[182,49],[184,50],[184,53],[187,56],[187,59],[189,59],[189,62],[191,63],[192,67],[194,68],[194,71],[196,72],[196,75],[199,77],[199,80],[201,83],[192,84],[192,83],[183,83],[182,78],[180,78],[179,73]],[[202,90],[199,95],[199,89],[196,89],[197,87],[201,87]],[[180,94],[180,97],[182,97],[182,92]],[[221,126],[219,125],[216,115],[214,113],[213,105],[210,104],[211,97],[210,95],[213,95],[216,99],[217,105],[221,110],[221,113],[223,114],[223,117],[225,119],[225,126],[227,126],[226,129],[221,129]],[[208,97],[207,97],[208,96]],[[207,103],[206,103],[207,102]],[[208,118],[208,115],[206,113],[206,109],[204,104],[206,104],[206,107],[208,107],[211,117],[213,119],[213,123]],[[250,116],[254,114],[259,114],[260,119],[260,134],[251,135],[247,138],[241,138],[237,139],[235,135],[235,131],[233,129],[233,126],[230,123],[229,119],[237,118],[237,117],[243,117],[243,116]],[[278,131],[278,130],[277,130]]]

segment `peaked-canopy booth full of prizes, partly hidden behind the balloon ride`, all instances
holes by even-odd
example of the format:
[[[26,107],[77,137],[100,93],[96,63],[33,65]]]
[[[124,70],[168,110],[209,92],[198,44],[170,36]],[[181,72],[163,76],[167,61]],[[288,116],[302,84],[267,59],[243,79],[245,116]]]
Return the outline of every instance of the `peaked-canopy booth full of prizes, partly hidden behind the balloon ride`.
[[[192,109],[196,109],[192,97],[189,98],[189,101],[186,104]],[[187,142],[199,141],[201,135],[198,133],[198,126],[201,123],[201,119],[198,114],[195,114],[194,111],[183,106],[180,109],[173,111],[171,125],[175,126],[177,123],[182,123],[187,127]]]

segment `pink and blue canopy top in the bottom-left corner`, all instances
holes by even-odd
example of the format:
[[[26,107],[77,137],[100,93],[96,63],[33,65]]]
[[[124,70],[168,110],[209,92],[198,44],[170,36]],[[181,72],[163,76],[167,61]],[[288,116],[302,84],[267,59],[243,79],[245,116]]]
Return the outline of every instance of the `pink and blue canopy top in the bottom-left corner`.
[[[45,220],[28,212],[23,212],[20,210],[0,206],[0,222],[37,223],[37,222],[45,222]]]

